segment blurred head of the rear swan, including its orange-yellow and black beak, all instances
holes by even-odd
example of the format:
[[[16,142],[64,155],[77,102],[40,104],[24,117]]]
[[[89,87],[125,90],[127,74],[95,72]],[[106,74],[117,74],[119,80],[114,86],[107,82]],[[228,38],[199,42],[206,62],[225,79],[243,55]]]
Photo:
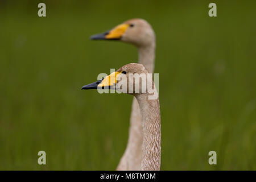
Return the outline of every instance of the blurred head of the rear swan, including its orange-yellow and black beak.
[[[121,40],[138,47],[155,42],[155,32],[144,19],[130,19],[101,34],[90,37],[92,40]]]

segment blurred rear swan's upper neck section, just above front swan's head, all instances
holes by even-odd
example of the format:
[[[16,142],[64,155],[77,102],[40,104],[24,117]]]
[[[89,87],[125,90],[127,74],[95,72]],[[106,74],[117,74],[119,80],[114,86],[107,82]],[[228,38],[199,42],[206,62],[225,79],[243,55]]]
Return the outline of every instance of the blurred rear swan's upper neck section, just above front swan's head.
[[[138,47],[139,63],[143,64],[149,73],[154,72],[155,65],[155,42],[147,46]]]

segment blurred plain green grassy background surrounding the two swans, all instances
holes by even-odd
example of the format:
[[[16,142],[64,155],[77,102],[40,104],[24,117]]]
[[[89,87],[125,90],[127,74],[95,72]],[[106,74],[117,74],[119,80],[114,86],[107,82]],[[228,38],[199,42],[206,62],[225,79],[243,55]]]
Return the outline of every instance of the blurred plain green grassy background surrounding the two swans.
[[[81,86],[136,63],[137,48],[89,36],[143,18],[156,33],[161,169],[255,170],[256,1],[214,1],[215,18],[210,2],[0,1],[0,169],[117,167],[133,97]]]

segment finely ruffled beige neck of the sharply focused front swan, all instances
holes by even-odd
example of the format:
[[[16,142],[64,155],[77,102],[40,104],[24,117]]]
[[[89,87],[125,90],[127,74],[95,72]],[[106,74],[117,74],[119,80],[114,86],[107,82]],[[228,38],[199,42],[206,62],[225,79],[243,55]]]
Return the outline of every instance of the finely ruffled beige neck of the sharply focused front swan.
[[[160,170],[161,125],[159,100],[148,100],[148,94],[135,96],[142,113],[141,170]]]

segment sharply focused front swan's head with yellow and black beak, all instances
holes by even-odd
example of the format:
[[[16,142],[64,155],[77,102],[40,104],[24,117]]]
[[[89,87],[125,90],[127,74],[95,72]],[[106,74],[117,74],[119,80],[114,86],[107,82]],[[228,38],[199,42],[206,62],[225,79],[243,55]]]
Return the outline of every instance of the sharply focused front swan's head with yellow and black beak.
[[[134,96],[137,94],[152,94],[155,87],[149,74],[142,64],[130,63],[102,80],[84,85],[82,89],[115,89],[117,92],[133,94]]]

